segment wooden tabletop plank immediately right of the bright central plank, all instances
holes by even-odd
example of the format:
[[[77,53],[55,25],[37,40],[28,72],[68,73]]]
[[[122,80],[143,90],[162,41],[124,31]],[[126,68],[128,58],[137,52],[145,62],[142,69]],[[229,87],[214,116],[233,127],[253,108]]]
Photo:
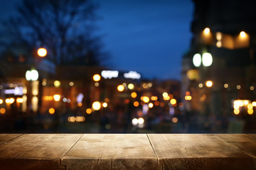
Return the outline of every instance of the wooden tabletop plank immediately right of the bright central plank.
[[[148,136],[164,169],[255,169],[252,157],[216,135]]]

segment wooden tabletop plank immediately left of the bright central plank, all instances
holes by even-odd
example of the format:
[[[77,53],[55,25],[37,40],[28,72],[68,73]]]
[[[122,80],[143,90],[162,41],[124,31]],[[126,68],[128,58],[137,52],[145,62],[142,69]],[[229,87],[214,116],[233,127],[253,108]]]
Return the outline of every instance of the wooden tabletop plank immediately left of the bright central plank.
[[[82,134],[27,134],[0,145],[0,169],[65,169],[60,159]]]

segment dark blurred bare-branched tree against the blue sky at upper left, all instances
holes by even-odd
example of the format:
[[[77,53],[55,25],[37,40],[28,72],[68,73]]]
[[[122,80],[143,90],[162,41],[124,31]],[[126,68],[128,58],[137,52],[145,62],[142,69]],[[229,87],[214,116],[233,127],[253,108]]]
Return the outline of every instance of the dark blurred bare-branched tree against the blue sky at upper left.
[[[96,9],[90,0],[23,0],[18,15],[2,24],[1,46],[24,56],[46,47],[55,64],[99,65],[107,55],[92,36]]]

